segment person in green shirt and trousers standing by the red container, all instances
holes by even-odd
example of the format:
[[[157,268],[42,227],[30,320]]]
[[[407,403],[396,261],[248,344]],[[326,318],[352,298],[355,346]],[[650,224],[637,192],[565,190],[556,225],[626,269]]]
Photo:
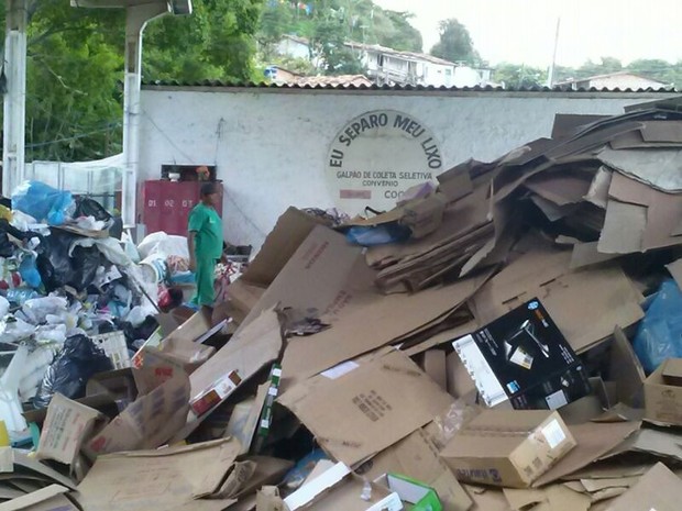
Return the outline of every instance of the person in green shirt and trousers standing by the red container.
[[[201,187],[201,202],[189,213],[189,269],[195,271],[197,282],[191,302],[207,309],[211,309],[216,300],[216,262],[222,257],[222,221],[216,211],[218,200],[218,185],[207,182]]]

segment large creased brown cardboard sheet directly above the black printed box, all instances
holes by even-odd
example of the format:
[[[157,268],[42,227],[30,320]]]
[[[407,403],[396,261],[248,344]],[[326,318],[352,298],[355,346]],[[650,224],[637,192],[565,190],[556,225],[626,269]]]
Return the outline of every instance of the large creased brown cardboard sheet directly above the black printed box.
[[[487,282],[473,298],[474,315],[487,324],[532,297],[542,304],[580,354],[608,337],[616,325],[626,327],[644,312],[641,296],[613,264],[569,269],[571,253],[540,241]]]

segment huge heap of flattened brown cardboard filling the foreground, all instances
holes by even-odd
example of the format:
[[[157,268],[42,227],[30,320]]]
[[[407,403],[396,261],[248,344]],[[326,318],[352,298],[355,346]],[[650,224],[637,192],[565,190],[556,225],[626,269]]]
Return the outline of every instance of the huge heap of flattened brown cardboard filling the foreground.
[[[674,108],[558,115],[392,211],[288,209],[210,318],[155,314],[132,367],[24,412],[0,498],[678,509],[681,154]]]

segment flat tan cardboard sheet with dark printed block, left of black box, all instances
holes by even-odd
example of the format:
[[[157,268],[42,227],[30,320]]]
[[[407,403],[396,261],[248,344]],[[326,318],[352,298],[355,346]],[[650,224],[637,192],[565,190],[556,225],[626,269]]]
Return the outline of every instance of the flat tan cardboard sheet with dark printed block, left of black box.
[[[453,402],[408,357],[394,352],[334,379],[279,398],[349,466],[374,456],[430,422]]]

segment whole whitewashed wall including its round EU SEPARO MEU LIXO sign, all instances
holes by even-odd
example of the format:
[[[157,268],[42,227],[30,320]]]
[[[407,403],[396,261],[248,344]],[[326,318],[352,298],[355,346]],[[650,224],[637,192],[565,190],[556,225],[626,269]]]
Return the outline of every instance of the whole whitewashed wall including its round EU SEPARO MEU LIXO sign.
[[[158,179],[162,165],[215,166],[226,238],[257,248],[289,205],[350,204],[358,212],[380,192],[388,197],[468,158],[492,160],[548,137],[557,113],[618,114],[668,96],[147,85],[139,176]],[[381,145],[389,136],[403,146]],[[400,152],[422,167],[391,174]],[[351,159],[367,166],[340,166]],[[354,196],[360,185],[364,191]],[[363,195],[371,187],[374,196]]]

